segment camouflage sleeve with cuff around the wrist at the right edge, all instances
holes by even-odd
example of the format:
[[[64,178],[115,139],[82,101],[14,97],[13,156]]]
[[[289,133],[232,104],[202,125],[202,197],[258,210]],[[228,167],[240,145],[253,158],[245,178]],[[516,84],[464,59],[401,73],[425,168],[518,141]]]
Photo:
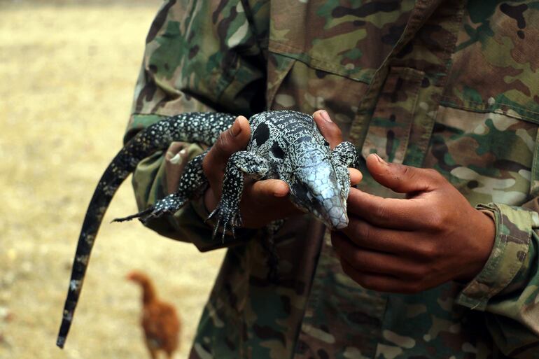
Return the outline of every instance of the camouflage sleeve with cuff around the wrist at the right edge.
[[[539,205],[479,205],[491,211],[496,239],[490,258],[457,298],[485,312],[486,326],[505,355],[537,358],[539,347]]]

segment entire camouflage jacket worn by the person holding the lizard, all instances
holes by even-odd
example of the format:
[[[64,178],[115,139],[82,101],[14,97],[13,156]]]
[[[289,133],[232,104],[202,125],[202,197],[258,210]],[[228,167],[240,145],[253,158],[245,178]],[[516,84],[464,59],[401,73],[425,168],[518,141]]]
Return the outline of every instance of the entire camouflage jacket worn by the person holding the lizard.
[[[165,1],[126,139],[186,111],[325,108],[363,157],[436,169],[496,219],[475,279],[416,295],[360,288],[307,216],[279,232],[268,283],[260,233],[244,230],[190,358],[539,358],[538,44],[539,1]],[[165,195],[164,171],[161,153],[139,165],[141,208]],[[362,171],[362,190],[395,196]],[[149,226],[223,246],[205,216],[193,202]]]

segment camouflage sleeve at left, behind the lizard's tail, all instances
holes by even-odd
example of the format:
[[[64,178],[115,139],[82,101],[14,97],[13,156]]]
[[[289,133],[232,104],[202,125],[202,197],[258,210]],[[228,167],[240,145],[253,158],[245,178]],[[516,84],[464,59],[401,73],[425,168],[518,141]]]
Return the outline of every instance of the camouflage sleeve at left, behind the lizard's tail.
[[[241,1],[165,1],[146,38],[143,64],[124,141],[164,116],[221,111],[249,116],[264,109],[265,64],[251,23],[253,10]],[[189,158],[202,150],[191,144]],[[143,160],[133,174],[139,209],[165,197],[163,153]],[[202,199],[148,227],[201,251],[223,246],[211,239]],[[248,232],[248,231],[245,231]],[[241,232],[236,241],[241,241]],[[235,241],[227,241],[230,245]]]

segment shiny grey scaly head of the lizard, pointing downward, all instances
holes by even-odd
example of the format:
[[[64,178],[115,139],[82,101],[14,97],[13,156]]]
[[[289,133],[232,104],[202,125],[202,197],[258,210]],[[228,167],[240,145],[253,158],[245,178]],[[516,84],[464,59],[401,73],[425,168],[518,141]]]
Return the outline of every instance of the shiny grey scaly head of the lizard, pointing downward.
[[[335,169],[328,155],[304,153],[296,161],[290,186],[290,199],[297,208],[314,214],[332,230],[348,225],[346,214],[346,197],[348,197],[349,180],[346,172],[342,181],[342,171]],[[341,180],[339,180],[339,178]]]

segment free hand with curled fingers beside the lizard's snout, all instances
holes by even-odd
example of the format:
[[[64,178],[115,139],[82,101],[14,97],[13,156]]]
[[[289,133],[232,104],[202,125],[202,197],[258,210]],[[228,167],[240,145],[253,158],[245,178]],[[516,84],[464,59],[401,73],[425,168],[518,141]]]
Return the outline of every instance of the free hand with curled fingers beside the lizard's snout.
[[[365,288],[417,293],[441,283],[469,281],[484,266],[496,233],[440,173],[367,157],[375,181],[406,193],[382,198],[351,188],[349,225],[332,233],[342,269]]]

